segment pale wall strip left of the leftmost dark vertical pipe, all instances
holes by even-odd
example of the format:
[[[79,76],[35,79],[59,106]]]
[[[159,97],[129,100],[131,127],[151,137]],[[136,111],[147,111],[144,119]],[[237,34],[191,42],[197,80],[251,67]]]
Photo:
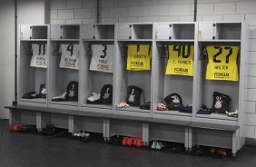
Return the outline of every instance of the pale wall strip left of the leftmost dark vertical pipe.
[[[5,104],[15,97],[15,3],[0,1],[0,117],[8,118]]]

